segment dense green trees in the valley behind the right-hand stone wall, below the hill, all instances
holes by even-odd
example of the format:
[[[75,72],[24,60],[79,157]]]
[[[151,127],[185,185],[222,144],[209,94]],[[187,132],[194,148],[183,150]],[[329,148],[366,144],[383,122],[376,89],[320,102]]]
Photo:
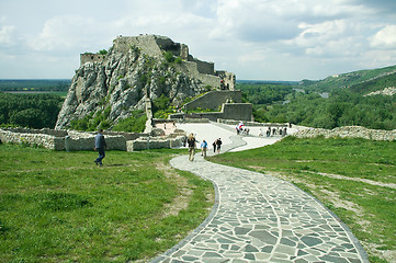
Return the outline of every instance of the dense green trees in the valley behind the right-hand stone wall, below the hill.
[[[318,92],[297,92],[295,88],[298,87],[279,87],[280,92],[274,91],[276,87],[268,85],[241,90],[246,100],[253,103],[253,116],[258,122],[328,129],[351,125],[396,129],[395,95],[364,96],[359,89],[344,88],[333,89],[325,99]]]

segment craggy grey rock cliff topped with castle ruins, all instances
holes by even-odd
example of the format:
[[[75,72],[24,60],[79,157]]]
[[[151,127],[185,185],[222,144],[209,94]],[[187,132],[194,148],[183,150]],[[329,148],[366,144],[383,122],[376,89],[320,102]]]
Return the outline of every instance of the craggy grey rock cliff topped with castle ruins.
[[[225,81],[234,89],[234,75],[216,73],[213,64],[194,59],[186,45],[162,36],[120,36],[108,54],[83,54],[80,59],[56,129],[99,115],[98,125],[105,122],[111,127],[162,94],[177,106],[189,96],[219,89]]]

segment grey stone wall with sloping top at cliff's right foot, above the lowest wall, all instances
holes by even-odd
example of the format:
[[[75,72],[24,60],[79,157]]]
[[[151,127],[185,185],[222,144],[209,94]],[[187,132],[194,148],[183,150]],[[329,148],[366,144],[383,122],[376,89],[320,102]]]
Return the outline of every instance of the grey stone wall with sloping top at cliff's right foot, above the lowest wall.
[[[240,103],[242,101],[241,91],[211,91],[194,101],[186,103],[184,110],[189,111],[201,107],[216,111],[227,101]]]

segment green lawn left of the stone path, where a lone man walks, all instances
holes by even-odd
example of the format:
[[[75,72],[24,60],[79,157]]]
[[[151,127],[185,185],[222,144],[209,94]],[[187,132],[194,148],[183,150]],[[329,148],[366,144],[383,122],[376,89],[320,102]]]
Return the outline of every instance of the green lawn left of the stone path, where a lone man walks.
[[[170,150],[60,152],[0,145],[1,262],[144,262],[210,214],[213,185]]]

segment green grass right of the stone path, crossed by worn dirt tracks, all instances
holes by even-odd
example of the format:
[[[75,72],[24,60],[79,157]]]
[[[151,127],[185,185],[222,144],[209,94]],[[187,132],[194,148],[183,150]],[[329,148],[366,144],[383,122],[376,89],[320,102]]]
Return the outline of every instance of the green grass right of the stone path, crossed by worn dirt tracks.
[[[371,262],[395,262],[396,141],[287,137],[210,160],[296,184],[351,228]]]

